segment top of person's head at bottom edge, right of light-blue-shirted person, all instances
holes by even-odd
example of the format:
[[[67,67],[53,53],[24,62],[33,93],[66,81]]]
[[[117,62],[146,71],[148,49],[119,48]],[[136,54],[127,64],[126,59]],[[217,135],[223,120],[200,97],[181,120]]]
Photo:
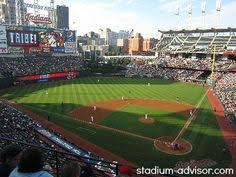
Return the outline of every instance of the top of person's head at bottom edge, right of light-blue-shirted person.
[[[81,167],[77,162],[66,164],[62,168],[61,177],[80,177]]]

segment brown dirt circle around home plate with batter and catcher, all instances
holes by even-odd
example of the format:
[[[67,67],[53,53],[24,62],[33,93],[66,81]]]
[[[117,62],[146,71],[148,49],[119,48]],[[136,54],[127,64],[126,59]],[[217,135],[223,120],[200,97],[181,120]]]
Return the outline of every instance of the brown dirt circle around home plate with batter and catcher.
[[[171,143],[175,137],[165,136],[157,138],[154,141],[154,146],[162,152],[172,155],[185,155],[192,151],[192,144],[184,139],[177,140],[175,145]]]

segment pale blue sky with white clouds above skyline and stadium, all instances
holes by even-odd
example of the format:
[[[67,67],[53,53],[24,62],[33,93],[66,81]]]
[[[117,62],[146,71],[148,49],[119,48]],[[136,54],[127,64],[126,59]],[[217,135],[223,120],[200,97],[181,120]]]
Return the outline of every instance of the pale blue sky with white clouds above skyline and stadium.
[[[191,21],[187,12],[190,1]],[[49,5],[49,2],[50,0],[39,0],[42,5]],[[216,13],[216,0],[206,0],[205,25],[201,15],[201,2],[202,0],[55,0],[55,4],[69,7],[70,28],[77,30],[78,35],[89,31],[98,32],[99,28],[110,28],[113,31],[134,29],[135,33],[140,32],[148,38],[158,37],[158,30],[236,26],[236,0],[222,0],[220,17]],[[179,16],[175,15],[178,7]]]

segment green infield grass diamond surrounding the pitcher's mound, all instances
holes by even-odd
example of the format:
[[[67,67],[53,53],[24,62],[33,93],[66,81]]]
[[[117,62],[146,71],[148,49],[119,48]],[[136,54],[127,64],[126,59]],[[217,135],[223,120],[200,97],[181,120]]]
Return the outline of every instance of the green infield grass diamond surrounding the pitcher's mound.
[[[156,122],[153,124],[139,122],[138,119],[144,117],[146,113],[148,113],[148,117],[154,118]],[[155,139],[159,136],[166,136],[166,129],[168,129],[170,136],[177,135],[187,119],[188,117],[174,112],[127,105],[98,123]]]

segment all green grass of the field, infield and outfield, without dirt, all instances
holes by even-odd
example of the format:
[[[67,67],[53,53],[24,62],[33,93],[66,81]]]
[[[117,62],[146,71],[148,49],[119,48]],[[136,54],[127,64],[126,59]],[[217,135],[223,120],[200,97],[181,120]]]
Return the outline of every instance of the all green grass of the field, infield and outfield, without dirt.
[[[67,115],[79,106],[114,98],[148,98],[180,101],[196,106],[205,93],[202,86],[153,79],[129,78],[81,78],[73,81],[58,81],[13,87],[1,95],[47,118],[81,137],[97,144],[137,165],[153,167],[174,167],[178,161],[211,159],[217,167],[231,163],[228,150],[212,108],[204,99],[197,113],[197,119],[184,134],[192,143],[193,151],[184,156],[173,156],[157,151],[152,141],[125,136],[110,130],[96,129],[79,121],[68,119]],[[151,86],[147,86],[150,83]],[[46,94],[48,92],[48,94]],[[131,93],[130,93],[131,92]],[[61,104],[63,102],[63,105]],[[149,112],[157,120],[155,124],[144,125],[137,119]],[[148,107],[127,105],[99,121],[99,124],[135,134],[156,138],[176,135],[187,117],[178,113],[156,110]]]

